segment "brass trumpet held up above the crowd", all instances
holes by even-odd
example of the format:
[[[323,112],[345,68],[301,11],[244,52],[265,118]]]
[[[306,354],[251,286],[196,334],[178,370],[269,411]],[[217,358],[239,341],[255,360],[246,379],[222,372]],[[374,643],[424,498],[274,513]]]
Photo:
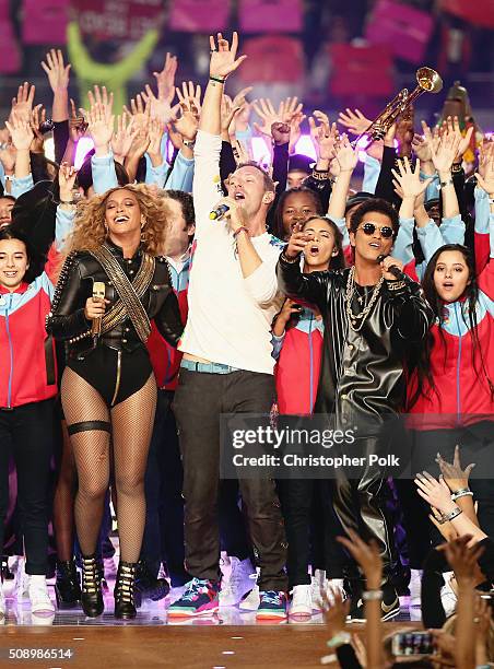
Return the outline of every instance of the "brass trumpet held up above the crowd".
[[[403,114],[403,111],[408,109],[417,97],[420,97],[423,93],[439,93],[439,91],[443,89],[442,78],[432,68],[420,68],[416,71],[415,77],[417,86],[411,93],[409,93],[408,89],[402,89],[398,95],[396,95],[391,102],[386,105],[385,109],[383,109],[379,116],[373,120],[370,126],[352,142],[352,146],[356,146],[364,136],[372,138],[369,144],[377,140],[384,139],[386,132],[397,120],[397,118]]]

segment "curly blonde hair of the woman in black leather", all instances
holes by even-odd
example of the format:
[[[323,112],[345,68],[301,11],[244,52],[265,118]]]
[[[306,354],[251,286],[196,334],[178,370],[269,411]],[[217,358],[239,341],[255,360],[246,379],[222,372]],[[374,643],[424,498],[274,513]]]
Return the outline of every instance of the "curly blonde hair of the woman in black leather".
[[[170,211],[165,198],[157,197],[144,184],[117,186],[104,195],[94,196],[78,206],[74,227],[67,240],[66,251],[95,250],[107,237],[105,225],[106,202],[116,190],[128,190],[136,196],[141,214],[145,218],[142,228],[142,246],[152,256],[161,254],[163,248]]]

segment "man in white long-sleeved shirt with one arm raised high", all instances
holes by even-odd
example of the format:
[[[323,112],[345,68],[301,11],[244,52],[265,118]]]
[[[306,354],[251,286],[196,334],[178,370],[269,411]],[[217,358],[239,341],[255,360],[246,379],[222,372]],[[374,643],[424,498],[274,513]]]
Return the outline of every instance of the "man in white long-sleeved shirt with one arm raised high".
[[[282,243],[266,231],[274,184],[255,163],[239,166],[223,198],[220,178],[221,99],[224,80],[245,57],[211,39],[210,81],[197,137],[193,179],[196,237],[189,313],[175,395],[184,462],[186,566],[192,580],[168,609],[170,617],[200,615],[219,607],[220,414],[269,413],[274,399],[271,321],[280,308],[275,266]],[[224,216],[211,220],[221,204]],[[271,479],[239,481],[250,538],[258,554],[258,618],[286,615],[286,543]]]

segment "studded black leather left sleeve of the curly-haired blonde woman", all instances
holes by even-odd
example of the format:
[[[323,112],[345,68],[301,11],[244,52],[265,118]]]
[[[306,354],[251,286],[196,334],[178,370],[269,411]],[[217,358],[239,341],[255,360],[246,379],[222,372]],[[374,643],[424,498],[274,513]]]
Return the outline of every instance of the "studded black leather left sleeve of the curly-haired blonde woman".
[[[60,271],[51,310],[46,319],[46,330],[58,341],[84,337],[91,332],[91,324],[84,316],[87,289],[83,285],[77,256],[71,254]]]

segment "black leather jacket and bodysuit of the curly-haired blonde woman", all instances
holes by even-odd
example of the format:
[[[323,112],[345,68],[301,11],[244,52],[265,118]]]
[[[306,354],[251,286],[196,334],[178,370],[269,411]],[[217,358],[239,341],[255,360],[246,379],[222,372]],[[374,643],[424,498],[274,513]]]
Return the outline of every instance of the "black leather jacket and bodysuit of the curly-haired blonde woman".
[[[142,250],[138,249],[133,258],[127,259],[120,247],[110,242],[106,242],[106,246],[132,282],[142,261]],[[47,318],[47,330],[55,339],[68,342],[67,366],[91,384],[108,407],[115,407],[142,388],[152,374],[152,366],[148,350],[128,316],[114,329],[102,334],[97,344],[94,344],[84,307],[87,298],[93,295],[95,281],[105,283],[105,297],[109,301],[106,308],[110,309],[118,294],[103,267],[90,253],[71,254],[60,273]],[[154,319],[160,333],[176,347],[184,325],[168,265],[163,256],[155,259],[151,284],[141,302],[150,320]]]

